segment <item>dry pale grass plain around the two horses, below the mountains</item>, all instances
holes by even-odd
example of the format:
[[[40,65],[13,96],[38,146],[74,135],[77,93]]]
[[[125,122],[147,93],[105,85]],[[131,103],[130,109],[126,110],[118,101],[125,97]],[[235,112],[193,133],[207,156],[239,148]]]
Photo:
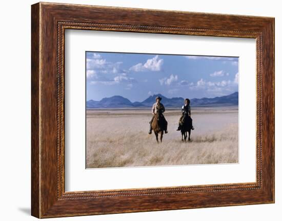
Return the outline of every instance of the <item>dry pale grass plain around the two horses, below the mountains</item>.
[[[238,162],[238,107],[191,109],[195,130],[182,142],[179,109],[167,109],[168,134],[148,134],[150,109],[87,110],[86,167],[134,167]]]

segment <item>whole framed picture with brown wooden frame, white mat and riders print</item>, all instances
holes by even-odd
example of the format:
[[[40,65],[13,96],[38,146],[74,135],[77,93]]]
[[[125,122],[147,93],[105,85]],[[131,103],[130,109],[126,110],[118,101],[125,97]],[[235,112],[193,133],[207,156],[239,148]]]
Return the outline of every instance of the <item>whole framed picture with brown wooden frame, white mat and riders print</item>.
[[[274,18],[31,9],[33,216],[274,203]]]

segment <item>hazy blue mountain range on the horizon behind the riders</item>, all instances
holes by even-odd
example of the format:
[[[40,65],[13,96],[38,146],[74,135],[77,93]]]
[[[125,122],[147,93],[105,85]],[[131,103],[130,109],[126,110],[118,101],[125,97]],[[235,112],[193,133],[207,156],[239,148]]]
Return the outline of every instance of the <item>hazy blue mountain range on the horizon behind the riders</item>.
[[[162,94],[154,94],[149,96],[143,102],[131,102],[129,99],[123,96],[112,96],[105,97],[100,101],[89,100],[86,102],[86,108],[142,108],[142,107],[152,107],[155,103],[155,97],[162,97],[162,103],[165,107],[179,107],[184,103],[183,97],[172,97],[167,98]],[[234,92],[232,94],[214,98],[193,98],[190,99],[190,105],[192,107],[198,106],[236,106],[238,105],[238,92]]]

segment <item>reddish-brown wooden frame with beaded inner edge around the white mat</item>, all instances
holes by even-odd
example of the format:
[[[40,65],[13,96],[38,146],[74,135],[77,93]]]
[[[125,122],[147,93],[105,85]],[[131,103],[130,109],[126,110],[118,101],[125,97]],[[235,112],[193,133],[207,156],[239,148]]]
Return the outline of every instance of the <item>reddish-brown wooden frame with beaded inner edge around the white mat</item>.
[[[274,203],[274,18],[37,3],[31,7],[31,214],[38,218]],[[256,182],[65,192],[66,29],[256,39]],[[268,110],[267,114],[262,110]]]

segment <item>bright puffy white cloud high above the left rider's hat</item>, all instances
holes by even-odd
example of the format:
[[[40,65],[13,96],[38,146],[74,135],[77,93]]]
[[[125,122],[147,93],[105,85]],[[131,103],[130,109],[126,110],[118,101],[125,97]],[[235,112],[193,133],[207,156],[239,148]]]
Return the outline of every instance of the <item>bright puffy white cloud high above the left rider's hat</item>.
[[[132,66],[130,71],[160,71],[162,65],[164,64],[163,59],[159,59],[158,55],[154,56],[151,59],[148,59],[147,62],[143,65],[142,63],[138,63],[137,65]]]

